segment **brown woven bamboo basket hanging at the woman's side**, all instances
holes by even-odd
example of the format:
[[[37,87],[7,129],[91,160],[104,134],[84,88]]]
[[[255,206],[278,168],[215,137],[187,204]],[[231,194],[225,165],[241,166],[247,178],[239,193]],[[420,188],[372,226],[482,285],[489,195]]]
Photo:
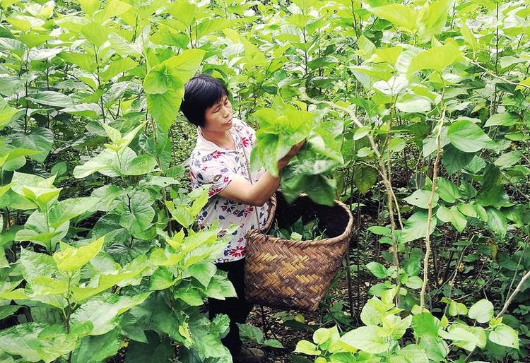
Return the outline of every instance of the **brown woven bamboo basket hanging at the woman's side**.
[[[293,241],[266,234],[275,219],[282,228],[300,217],[304,223],[318,218],[319,228],[330,238]],[[249,302],[316,310],[348,250],[352,226],[351,211],[340,201],[326,207],[300,196],[289,205],[276,194],[266,225],[247,233],[245,294]]]

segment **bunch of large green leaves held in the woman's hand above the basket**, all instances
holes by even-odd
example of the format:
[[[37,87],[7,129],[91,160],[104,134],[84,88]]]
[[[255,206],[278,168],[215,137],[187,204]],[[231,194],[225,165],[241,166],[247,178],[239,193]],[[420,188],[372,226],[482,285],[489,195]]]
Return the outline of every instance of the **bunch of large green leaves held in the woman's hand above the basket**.
[[[336,141],[342,124],[323,123],[317,114],[297,109],[279,97],[272,109],[259,109],[254,117],[259,121],[259,130],[251,155],[252,166],[263,166],[278,175],[278,160],[306,140],[296,160],[282,172],[283,195],[292,202],[305,193],[316,203],[332,206],[336,184],[327,175],[343,165],[340,143]]]

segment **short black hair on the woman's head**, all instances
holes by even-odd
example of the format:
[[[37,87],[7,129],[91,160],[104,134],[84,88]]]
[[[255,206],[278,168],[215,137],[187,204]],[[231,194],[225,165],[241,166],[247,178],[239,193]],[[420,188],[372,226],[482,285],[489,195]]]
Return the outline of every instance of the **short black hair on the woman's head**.
[[[207,74],[199,74],[184,86],[184,100],[180,104],[180,110],[192,124],[204,126],[204,112],[223,96],[228,97],[223,81]]]

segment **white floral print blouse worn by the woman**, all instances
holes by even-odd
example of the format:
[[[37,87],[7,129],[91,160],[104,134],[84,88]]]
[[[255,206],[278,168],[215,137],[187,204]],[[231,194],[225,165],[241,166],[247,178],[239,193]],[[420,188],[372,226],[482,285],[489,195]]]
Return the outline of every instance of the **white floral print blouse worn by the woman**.
[[[265,224],[269,218],[269,203],[263,207],[248,206],[247,204],[218,196],[220,191],[230,184],[232,177],[239,174],[249,180],[247,160],[250,161],[250,153],[256,140],[255,131],[245,122],[232,119],[230,134],[235,141],[235,150],[220,148],[220,146],[206,140],[197,128],[197,143],[189,159],[189,174],[192,188],[196,189],[204,184],[211,184],[208,191],[208,203],[198,215],[199,227],[205,228],[218,220],[221,228],[232,224],[238,226],[232,233],[230,244],[225,249],[216,263],[232,262],[245,257],[247,241],[245,234],[249,230],[257,229],[257,217],[254,208],[257,208],[259,225]],[[244,154],[245,153],[245,154]],[[245,155],[247,160],[245,160]],[[264,169],[251,172],[252,183],[257,182]]]

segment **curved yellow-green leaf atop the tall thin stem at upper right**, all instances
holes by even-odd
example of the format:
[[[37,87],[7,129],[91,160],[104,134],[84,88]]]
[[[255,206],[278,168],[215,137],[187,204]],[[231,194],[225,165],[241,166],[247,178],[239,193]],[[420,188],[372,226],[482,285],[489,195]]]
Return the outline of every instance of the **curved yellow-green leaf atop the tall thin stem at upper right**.
[[[460,56],[458,44],[455,42],[447,42],[439,47],[424,50],[413,57],[411,64],[408,66],[407,77],[411,78],[414,73],[423,69],[433,69],[441,73],[457,61]]]

